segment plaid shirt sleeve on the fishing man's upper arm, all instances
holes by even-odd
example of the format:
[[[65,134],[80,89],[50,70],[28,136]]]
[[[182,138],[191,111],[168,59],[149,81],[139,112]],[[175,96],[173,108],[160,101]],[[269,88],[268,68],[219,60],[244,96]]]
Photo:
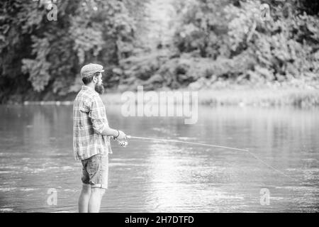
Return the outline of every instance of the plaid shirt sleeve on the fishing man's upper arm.
[[[104,104],[99,97],[95,97],[95,99],[91,101],[89,118],[91,119],[94,131],[98,134],[102,134],[106,128],[107,119]]]

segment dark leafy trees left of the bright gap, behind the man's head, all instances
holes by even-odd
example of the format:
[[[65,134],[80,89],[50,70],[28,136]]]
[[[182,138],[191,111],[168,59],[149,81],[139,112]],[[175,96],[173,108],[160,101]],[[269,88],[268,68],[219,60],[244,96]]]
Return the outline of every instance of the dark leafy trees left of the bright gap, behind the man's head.
[[[87,62],[100,62],[110,73],[133,54],[133,16],[140,9],[138,0],[1,1],[0,101],[75,92]],[[106,84],[118,83],[112,73],[108,78]]]

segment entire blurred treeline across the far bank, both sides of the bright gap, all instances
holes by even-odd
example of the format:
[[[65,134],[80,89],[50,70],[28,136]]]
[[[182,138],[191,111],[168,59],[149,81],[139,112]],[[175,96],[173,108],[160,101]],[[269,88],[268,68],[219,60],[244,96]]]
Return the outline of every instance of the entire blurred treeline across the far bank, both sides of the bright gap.
[[[64,99],[79,90],[87,62],[105,65],[116,91],[318,84],[317,1],[173,1],[176,31],[156,50],[140,35],[148,1],[1,1],[0,102]],[[57,21],[48,19],[52,4]]]

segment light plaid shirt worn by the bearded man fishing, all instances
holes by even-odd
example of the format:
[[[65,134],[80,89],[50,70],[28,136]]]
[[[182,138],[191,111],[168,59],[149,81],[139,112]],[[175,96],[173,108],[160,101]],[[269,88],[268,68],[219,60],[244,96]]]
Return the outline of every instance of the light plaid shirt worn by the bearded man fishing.
[[[82,86],[73,104],[73,150],[76,160],[112,153],[110,137],[101,135],[106,126],[108,120],[99,93]]]

